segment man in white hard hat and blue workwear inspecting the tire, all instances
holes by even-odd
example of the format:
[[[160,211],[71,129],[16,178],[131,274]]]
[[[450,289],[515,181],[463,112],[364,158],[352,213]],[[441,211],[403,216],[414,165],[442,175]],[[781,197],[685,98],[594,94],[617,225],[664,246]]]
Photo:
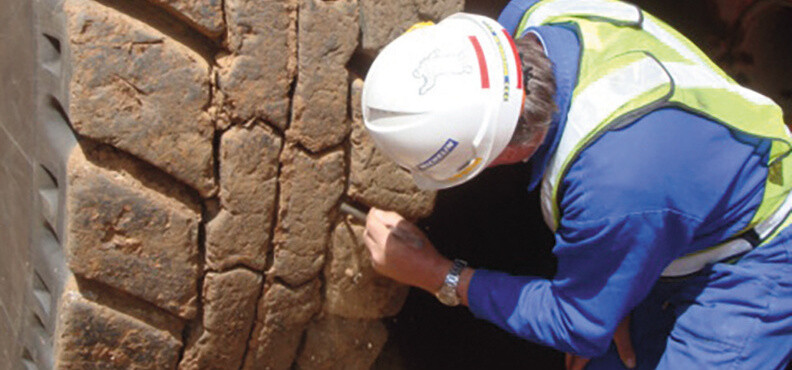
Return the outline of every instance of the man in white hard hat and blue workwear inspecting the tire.
[[[780,108],[633,5],[515,0],[498,21],[458,14],[395,40],[366,78],[364,120],[423,188],[530,161],[556,276],[452,262],[380,210],[365,233],[374,267],[589,368],[624,366],[610,344],[630,316],[638,368],[788,363]]]

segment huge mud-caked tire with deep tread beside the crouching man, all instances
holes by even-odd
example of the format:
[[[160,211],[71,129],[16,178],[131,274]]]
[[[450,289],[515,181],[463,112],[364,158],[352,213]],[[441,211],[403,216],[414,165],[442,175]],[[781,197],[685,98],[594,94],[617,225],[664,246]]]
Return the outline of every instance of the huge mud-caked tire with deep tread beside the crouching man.
[[[12,66],[37,122],[0,137],[35,168],[3,219],[10,284],[29,288],[0,301],[3,364],[371,366],[406,287],[373,272],[338,205],[416,219],[434,194],[374,149],[353,76],[462,1],[3,1],[39,45]]]

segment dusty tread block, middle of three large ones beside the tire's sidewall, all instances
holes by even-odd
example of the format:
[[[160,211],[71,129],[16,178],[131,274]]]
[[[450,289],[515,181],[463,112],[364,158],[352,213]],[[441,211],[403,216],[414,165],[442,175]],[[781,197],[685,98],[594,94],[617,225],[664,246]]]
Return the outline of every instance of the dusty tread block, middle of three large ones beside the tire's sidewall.
[[[196,313],[199,205],[134,158],[83,144],[69,159],[69,267],[183,318]]]

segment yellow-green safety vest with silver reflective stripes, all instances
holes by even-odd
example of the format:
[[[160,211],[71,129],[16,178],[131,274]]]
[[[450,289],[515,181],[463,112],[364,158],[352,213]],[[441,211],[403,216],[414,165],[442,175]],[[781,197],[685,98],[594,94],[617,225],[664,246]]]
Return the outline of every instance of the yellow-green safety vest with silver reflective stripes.
[[[792,187],[792,148],[781,109],[736,84],[690,41],[639,8],[614,0],[546,0],[528,9],[515,34],[544,24],[565,24],[581,39],[578,84],[567,124],[542,182],[542,211],[555,231],[561,215],[559,185],[579,153],[596,138],[665,105],[680,107],[758,138],[771,139],[769,173],[759,208],[745,230],[774,216]],[[714,247],[725,250],[722,245]],[[697,252],[664,275],[700,265]],[[712,255],[722,256],[722,253]],[[678,260],[679,261],[679,260]],[[715,262],[717,260],[710,260]],[[684,261],[683,261],[684,262]],[[686,266],[674,271],[673,266]]]

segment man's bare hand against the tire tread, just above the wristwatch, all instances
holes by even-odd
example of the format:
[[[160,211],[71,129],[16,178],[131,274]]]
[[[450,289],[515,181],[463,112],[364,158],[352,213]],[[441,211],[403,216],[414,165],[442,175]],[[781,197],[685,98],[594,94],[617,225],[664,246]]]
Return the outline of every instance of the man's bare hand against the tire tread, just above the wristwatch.
[[[440,289],[452,265],[418,227],[398,213],[372,208],[363,239],[374,270],[431,293]]]

